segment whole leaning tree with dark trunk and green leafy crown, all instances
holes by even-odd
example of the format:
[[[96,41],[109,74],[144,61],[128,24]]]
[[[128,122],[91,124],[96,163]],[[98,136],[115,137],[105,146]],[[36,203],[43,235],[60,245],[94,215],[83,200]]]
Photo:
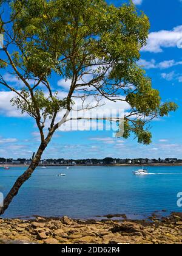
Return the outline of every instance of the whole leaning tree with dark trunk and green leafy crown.
[[[1,2],[3,10],[6,1]],[[58,127],[71,121],[68,115],[76,98],[83,102],[81,109],[87,110],[98,107],[103,98],[127,102],[130,113],[124,116],[124,138],[134,133],[144,144],[151,142],[147,123],[177,108],[172,102],[161,104],[159,92],[137,65],[149,34],[149,20],[144,13],[138,14],[132,1],[118,8],[104,0],[8,2],[11,16],[6,20],[1,12],[0,19],[4,34],[0,84],[2,90],[16,94],[12,104],[35,119],[41,143],[29,168],[5,197],[0,214],[32,175]],[[23,87],[8,84],[5,72],[13,74]],[[50,83],[53,74],[70,82],[64,98]],[[86,103],[93,99],[95,105]],[[64,112],[61,120],[59,112]]]

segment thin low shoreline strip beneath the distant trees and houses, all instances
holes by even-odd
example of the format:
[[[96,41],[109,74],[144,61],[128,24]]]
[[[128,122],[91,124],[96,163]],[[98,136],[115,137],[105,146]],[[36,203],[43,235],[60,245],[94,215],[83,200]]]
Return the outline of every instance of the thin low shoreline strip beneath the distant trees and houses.
[[[42,167],[43,165],[39,165],[38,167]],[[127,163],[123,163],[123,164],[116,164],[116,165],[44,165],[45,167],[74,167],[74,166],[110,166],[110,167],[120,167],[120,166],[182,166],[182,163],[141,163],[141,164],[127,164]],[[12,165],[12,164],[8,164],[8,167],[29,167],[29,165]],[[4,165],[0,164],[0,168],[4,168]]]

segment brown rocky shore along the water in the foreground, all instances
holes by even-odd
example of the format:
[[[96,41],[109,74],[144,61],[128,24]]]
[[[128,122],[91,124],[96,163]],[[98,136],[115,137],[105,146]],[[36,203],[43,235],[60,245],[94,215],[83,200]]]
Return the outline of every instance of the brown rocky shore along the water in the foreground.
[[[0,219],[0,243],[38,244],[167,244],[182,243],[182,213],[168,218],[114,221],[37,217]]]

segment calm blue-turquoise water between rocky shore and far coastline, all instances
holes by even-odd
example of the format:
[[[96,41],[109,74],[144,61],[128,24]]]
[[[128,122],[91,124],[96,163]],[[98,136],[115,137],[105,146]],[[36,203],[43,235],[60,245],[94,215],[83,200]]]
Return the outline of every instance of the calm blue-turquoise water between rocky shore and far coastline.
[[[152,166],[157,175],[133,176],[137,167],[37,168],[19,191],[4,217],[63,216],[95,218],[126,213],[130,218],[156,210],[181,212],[177,193],[182,191],[182,166]],[[25,168],[0,168],[0,191],[10,190]],[[59,173],[66,177],[58,177]]]

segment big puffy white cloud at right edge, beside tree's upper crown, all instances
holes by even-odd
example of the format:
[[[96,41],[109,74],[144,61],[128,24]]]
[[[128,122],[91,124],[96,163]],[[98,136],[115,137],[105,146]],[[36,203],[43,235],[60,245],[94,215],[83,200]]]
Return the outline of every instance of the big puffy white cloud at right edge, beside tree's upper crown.
[[[177,47],[182,38],[182,26],[174,27],[172,30],[160,30],[149,34],[147,45],[141,51],[163,52],[163,48]]]

